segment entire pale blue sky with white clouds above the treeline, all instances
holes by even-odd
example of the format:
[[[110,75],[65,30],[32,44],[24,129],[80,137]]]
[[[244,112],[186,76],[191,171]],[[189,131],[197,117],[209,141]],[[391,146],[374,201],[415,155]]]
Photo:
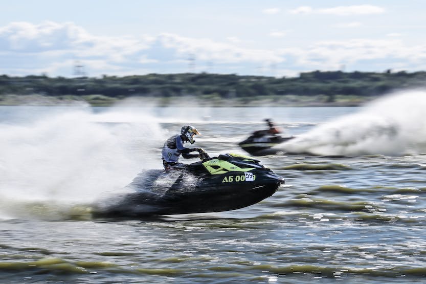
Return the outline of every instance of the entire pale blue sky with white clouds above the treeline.
[[[0,0],[0,74],[426,70],[423,0]]]

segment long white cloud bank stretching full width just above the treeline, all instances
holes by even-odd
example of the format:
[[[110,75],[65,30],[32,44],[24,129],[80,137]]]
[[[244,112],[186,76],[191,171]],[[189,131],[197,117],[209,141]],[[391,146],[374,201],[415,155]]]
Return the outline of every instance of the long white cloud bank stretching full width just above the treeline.
[[[354,22],[347,26],[357,25]],[[272,30],[269,36],[283,37],[287,33]],[[426,42],[413,45],[402,39],[388,34],[382,39],[328,40],[303,46],[289,41],[285,49],[254,49],[246,48],[236,37],[223,41],[172,33],[105,37],[88,33],[74,23],[19,22],[0,27],[0,74],[73,76],[77,60],[91,77],[201,72],[208,64],[214,66],[215,73],[244,75],[258,74],[259,66],[274,64],[276,74],[286,76],[337,70],[343,64],[347,71],[424,69]],[[194,63],[192,69],[190,63]],[[268,75],[270,69],[266,69],[263,75]]]

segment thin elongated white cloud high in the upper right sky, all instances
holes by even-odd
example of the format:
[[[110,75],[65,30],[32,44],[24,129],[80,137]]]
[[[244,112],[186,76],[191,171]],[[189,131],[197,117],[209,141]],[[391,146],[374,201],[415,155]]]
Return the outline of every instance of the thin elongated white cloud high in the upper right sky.
[[[382,14],[385,9],[373,5],[338,6],[333,8],[313,9],[309,6],[301,6],[290,10],[292,14],[327,14],[337,16]]]

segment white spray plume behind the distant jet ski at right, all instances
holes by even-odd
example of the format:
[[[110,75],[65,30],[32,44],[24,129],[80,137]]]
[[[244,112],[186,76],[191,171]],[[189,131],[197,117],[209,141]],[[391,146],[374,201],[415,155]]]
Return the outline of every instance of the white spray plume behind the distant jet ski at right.
[[[314,155],[410,155],[426,152],[426,91],[401,91],[358,113],[321,124],[282,145]]]

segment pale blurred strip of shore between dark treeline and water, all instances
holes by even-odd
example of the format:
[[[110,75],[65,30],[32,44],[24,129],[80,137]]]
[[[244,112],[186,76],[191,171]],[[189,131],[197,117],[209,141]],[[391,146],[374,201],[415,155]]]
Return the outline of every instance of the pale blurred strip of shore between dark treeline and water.
[[[336,96],[333,102],[327,102],[324,95],[316,96],[256,96],[244,98],[218,98],[203,96],[182,97],[128,97],[111,98],[104,95],[86,96],[42,96],[42,95],[0,95],[0,105],[33,105],[33,106],[71,106],[88,104],[90,106],[209,106],[209,107],[324,107],[324,106],[362,106],[377,97]]]

